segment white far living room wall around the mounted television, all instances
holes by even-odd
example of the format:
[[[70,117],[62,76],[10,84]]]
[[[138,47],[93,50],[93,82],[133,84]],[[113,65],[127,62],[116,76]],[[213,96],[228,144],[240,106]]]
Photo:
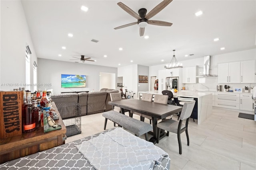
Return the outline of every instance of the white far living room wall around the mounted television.
[[[38,58],[38,83],[51,84],[51,86],[39,86],[38,88],[41,90],[53,89],[54,93],[97,91],[100,90],[100,72],[117,75],[117,68]],[[61,88],[61,74],[86,75],[86,87]],[[117,77],[115,77],[116,79]]]

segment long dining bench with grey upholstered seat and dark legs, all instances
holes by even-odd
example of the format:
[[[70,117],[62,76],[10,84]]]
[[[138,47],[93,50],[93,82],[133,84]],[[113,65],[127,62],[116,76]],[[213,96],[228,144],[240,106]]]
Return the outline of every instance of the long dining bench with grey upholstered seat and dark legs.
[[[138,137],[145,134],[146,141],[148,141],[148,132],[153,130],[153,127],[150,124],[113,110],[104,112],[102,116],[105,117],[104,130],[106,130],[108,119],[131,131]]]

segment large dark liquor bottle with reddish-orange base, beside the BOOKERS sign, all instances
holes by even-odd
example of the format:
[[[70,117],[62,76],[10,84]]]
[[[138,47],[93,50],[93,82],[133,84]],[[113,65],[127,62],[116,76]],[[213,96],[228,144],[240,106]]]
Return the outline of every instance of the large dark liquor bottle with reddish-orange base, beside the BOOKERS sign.
[[[27,92],[27,104],[22,112],[22,129],[24,133],[34,131],[36,127],[34,105],[31,103],[31,92]]]

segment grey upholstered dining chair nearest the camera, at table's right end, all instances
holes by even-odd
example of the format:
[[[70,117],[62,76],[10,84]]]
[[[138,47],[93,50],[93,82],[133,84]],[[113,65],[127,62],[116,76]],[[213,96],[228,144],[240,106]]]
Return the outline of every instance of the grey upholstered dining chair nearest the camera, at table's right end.
[[[157,124],[157,143],[159,143],[160,138],[160,129],[167,131],[167,136],[169,136],[169,132],[176,133],[178,137],[178,144],[179,144],[179,153],[182,154],[182,146],[180,141],[180,134],[182,132],[186,132],[187,136],[187,144],[189,146],[189,137],[188,137],[188,120],[190,115],[192,114],[193,108],[195,106],[196,101],[193,100],[192,102],[185,102],[182,111],[180,114],[180,121],[176,121],[173,119],[165,119]],[[186,124],[182,124],[182,121],[186,120]]]

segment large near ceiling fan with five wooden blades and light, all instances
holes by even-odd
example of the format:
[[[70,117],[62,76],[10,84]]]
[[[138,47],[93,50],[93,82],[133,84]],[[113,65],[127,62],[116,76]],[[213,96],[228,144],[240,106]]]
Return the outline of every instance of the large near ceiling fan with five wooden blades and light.
[[[136,14],[136,12],[134,12],[133,10],[131,10],[128,6],[124,5],[122,2],[118,2],[117,3],[118,6],[120,6],[128,14],[130,14],[131,16],[136,18],[138,21],[137,22],[133,22],[133,23],[128,23],[126,25],[122,25],[122,26],[116,27],[114,29],[120,29],[120,28],[124,28],[124,27],[128,27],[128,26],[131,26],[131,25],[138,24],[138,26],[140,27],[140,36],[143,36],[144,32],[145,32],[145,27],[148,24],[159,25],[159,26],[172,26],[172,23],[170,23],[170,22],[158,21],[158,20],[149,20],[150,18],[152,18],[153,16],[158,14],[158,12],[160,12],[162,9],[164,9],[171,2],[172,2],[172,0],[163,0],[155,8],[153,8],[150,12],[148,12],[148,14],[146,14],[147,10],[145,8],[141,8],[138,11],[139,15]]]

